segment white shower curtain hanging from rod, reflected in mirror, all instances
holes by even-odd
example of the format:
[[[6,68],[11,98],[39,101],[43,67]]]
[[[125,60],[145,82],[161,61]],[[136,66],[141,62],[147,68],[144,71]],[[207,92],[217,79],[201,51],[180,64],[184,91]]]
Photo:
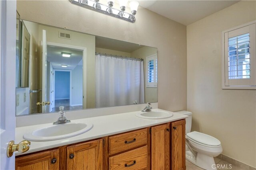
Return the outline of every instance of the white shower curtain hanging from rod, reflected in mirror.
[[[96,55],[96,107],[145,103],[143,61]]]

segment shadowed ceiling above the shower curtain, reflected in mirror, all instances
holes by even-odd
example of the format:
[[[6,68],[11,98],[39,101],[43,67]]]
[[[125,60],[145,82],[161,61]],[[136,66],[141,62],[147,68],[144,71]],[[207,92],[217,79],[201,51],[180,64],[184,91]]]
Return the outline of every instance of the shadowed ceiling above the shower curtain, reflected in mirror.
[[[111,39],[106,37],[95,37],[95,46],[102,49],[110,49],[116,51],[123,51],[126,53],[131,53],[137,49],[144,47],[144,45],[128,43],[126,41],[120,41],[117,39]]]

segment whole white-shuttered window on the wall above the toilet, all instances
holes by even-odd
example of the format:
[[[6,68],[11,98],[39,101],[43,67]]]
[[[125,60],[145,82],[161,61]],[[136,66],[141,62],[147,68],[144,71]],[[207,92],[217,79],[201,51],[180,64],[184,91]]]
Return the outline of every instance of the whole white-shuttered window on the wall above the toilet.
[[[256,23],[222,32],[222,88],[256,89]]]

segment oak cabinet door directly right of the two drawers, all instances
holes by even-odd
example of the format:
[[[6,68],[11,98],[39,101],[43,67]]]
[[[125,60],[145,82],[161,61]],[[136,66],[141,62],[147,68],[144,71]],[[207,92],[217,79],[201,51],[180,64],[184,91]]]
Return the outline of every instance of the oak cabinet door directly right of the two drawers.
[[[151,169],[170,170],[170,123],[151,128]]]

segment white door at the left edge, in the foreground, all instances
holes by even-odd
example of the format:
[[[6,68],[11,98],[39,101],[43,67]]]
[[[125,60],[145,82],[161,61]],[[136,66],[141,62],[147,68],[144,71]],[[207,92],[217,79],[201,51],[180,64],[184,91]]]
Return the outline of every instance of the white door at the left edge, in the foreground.
[[[0,169],[14,170],[15,154],[8,158],[6,151],[16,127],[16,1],[1,0],[0,9]]]

